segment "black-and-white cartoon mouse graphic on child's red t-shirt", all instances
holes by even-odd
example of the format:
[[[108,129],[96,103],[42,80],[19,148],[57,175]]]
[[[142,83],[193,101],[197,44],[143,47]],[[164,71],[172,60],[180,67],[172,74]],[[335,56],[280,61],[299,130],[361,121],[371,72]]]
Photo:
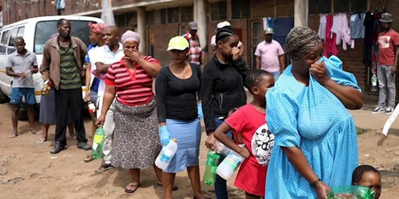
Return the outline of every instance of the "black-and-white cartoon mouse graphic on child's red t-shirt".
[[[252,154],[261,165],[266,165],[269,162],[274,145],[274,135],[268,130],[267,124],[260,126],[251,140]]]

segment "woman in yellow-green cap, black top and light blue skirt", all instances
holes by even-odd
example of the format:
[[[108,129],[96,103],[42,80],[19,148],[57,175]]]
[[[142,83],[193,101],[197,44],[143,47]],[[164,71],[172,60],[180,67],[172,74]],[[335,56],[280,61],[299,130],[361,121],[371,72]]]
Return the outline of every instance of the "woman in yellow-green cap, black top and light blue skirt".
[[[168,168],[163,170],[164,198],[172,198],[172,187],[177,172],[187,168],[194,198],[204,199],[199,182],[199,142],[201,141],[202,108],[197,96],[201,87],[201,68],[186,62],[190,49],[187,39],[176,36],[170,39],[168,51],[173,62],[163,67],[156,76],[156,110],[161,144],[166,146],[177,139],[176,154]],[[199,100],[200,97],[198,96]],[[198,108],[199,106],[199,108]]]

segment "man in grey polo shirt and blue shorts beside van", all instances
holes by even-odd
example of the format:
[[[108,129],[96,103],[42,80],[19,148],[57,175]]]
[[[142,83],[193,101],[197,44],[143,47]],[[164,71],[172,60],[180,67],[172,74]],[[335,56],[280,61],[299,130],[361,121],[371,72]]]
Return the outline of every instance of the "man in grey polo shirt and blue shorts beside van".
[[[12,104],[12,126],[14,131],[9,137],[17,136],[18,128],[18,111],[22,97],[25,96],[25,104],[28,107],[28,117],[30,132],[35,134],[34,129],[34,105],[35,100],[35,86],[33,83],[32,74],[38,72],[38,62],[36,54],[25,49],[25,41],[22,37],[15,39],[16,51],[7,57],[6,73],[8,76],[14,77],[11,86],[11,100]]]

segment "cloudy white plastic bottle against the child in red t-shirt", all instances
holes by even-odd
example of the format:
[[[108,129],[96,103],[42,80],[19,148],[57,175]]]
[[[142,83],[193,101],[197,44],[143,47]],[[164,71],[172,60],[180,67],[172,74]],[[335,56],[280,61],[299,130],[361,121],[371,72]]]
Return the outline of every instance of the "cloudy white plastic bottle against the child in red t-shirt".
[[[244,144],[240,144],[239,146],[243,147]],[[219,164],[216,169],[217,175],[227,180],[230,178],[231,174],[237,170],[237,168],[243,162],[244,157],[238,154],[237,152],[231,150],[229,154],[227,154],[226,158]]]

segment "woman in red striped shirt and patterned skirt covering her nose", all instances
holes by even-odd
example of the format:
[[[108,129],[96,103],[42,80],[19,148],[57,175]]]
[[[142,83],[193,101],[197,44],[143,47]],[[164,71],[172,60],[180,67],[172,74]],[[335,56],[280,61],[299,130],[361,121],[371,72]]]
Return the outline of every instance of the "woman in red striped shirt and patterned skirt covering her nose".
[[[154,166],[161,148],[152,94],[152,78],[156,77],[161,66],[151,56],[138,54],[140,36],[137,33],[126,31],[121,42],[125,57],[108,68],[103,108],[96,124],[104,123],[116,94],[111,164],[129,169],[132,183],[126,186],[125,191],[133,193],[139,186],[140,169]],[[162,171],[156,166],[154,170],[161,182]]]

